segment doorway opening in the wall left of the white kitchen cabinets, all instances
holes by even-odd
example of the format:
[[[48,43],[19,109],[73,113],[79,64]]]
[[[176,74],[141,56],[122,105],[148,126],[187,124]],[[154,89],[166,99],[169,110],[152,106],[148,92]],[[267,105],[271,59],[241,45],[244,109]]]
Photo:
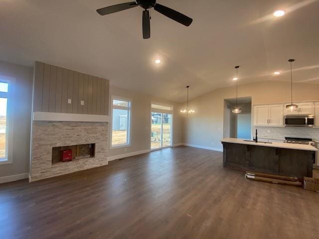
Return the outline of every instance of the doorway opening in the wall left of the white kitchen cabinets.
[[[238,107],[241,108],[240,114],[232,113],[235,106],[236,98],[224,100],[223,137],[251,139],[251,97],[238,98]]]

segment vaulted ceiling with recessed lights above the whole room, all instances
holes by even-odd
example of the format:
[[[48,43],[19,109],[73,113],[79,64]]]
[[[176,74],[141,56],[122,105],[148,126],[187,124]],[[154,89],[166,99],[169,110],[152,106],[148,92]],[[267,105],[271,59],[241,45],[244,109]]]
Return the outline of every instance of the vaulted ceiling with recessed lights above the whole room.
[[[0,0],[0,59],[42,61],[178,102],[186,85],[190,98],[234,85],[235,65],[239,84],[289,81],[289,58],[296,59],[294,81],[319,84],[319,0],[158,0],[193,23],[152,10],[146,40],[142,8],[96,12],[126,1]],[[286,15],[274,17],[277,9]]]

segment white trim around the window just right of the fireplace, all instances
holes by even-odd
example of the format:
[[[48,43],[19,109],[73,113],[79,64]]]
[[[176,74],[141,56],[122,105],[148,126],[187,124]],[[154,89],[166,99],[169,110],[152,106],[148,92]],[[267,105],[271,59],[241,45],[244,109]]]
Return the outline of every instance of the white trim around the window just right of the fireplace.
[[[120,100],[120,101],[127,101],[129,104],[128,107],[125,107],[125,106],[114,106],[113,105],[113,100]],[[114,96],[112,95],[111,96],[111,113],[110,113],[110,116],[111,116],[111,127],[110,127],[110,149],[115,149],[115,148],[125,148],[125,147],[130,147],[131,146],[131,135],[132,135],[132,103],[133,103],[133,100],[130,99],[130,98],[125,98],[125,97],[120,97],[120,96]],[[128,142],[127,143],[122,143],[122,144],[116,144],[116,145],[112,145],[112,137],[113,137],[113,110],[114,109],[118,109],[118,110],[128,110],[128,119],[129,119],[129,122],[128,122],[128,135],[127,135],[127,140]]]

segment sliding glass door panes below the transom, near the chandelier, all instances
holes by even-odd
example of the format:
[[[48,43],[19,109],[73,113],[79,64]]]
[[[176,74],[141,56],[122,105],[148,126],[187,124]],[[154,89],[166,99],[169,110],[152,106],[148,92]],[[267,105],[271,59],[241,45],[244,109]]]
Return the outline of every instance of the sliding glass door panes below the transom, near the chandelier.
[[[152,112],[151,149],[171,146],[171,114]]]

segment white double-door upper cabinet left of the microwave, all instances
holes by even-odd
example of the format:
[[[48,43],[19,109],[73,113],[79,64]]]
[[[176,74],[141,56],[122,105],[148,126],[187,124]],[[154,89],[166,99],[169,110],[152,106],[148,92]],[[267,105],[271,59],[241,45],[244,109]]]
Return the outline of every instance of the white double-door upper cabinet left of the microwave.
[[[283,105],[260,105],[254,106],[255,126],[283,126]]]

